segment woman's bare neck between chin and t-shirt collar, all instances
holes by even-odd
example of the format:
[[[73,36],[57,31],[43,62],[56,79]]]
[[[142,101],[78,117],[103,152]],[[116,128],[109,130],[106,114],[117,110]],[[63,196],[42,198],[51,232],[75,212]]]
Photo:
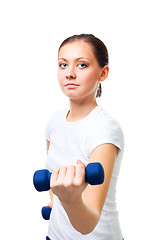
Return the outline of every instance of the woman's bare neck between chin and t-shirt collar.
[[[74,101],[70,99],[70,111],[68,112],[66,119],[68,122],[74,122],[85,118],[96,106],[98,106],[96,100],[88,103],[83,101]]]

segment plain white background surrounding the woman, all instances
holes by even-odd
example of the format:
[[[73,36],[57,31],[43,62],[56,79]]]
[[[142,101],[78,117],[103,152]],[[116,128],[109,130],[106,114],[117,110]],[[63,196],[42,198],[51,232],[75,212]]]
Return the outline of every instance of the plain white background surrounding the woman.
[[[98,103],[125,134],[117,188],[124,238],[160,239],[159,16],[158,0],[1,0],[1,239],[47,235],[40,209],[48,193],[36,192],[32,177],[45,166],[48,118],[68,106],[57,82],[57,50],[79,33],[95,34],[109,50]]]

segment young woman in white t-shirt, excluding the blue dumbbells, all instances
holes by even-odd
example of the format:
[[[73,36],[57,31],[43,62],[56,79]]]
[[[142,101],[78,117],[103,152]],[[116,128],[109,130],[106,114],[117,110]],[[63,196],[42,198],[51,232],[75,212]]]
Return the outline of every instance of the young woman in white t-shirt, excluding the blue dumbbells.
[[[96,102],[109,72],[107,48],[91,34],[74,35],[61,44],[58,66],[70,108],[56,111],[46,128],[46,167],[53,172],[47,239],[122,240],[116,184],[123,133]],[[91,162],[103,165],[102,185],[85,183],[85,166]]]

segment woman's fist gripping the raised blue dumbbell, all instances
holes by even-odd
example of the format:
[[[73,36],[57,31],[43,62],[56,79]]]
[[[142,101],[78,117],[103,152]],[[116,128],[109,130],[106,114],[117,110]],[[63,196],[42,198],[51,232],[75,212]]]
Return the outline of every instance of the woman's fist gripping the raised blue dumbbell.
[[[85,164],[78,160],[76,166],[70,165],[53,171],[50,187],[61,202],[71,204],[81,198],[87,187],[85,167]]]

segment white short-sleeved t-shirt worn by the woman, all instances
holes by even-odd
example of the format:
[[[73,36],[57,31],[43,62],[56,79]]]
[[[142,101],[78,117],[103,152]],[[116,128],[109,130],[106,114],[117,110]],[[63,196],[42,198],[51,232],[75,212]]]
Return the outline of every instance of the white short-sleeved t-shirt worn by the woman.
[[[95,229],[87,235],[75,230],[61,202],[54,195],[48,236],[51,240],[122,240],[116,208],[116,184],[124,148],[121,127],[99,105],[79,121],[68,122],[67,113],[68,109],[57,111],[48,121],[46,138],[50,141],[50,147],[46,168],[49,171],[61,166],[75,165],[78,159],[87,164],[92,150],[104,143],[112,143],[120,150],[101,217]]]

